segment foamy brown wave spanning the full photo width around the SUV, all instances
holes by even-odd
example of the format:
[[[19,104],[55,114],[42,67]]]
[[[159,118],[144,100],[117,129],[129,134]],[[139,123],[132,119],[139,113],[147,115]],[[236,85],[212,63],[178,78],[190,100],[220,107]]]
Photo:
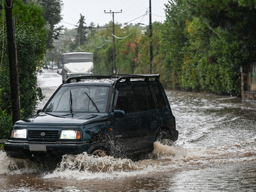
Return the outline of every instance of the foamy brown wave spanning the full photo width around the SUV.
[[[254,141],[256,139],[254,138]],[[44,179],[113,179],[164,172],[170,168],[209,166],[212,163],[239,163],[255,161],[256,150],[244,150],[246,143],[236,143],[232,148],[186,149],[180,146],[154,143],[154,151],[141,161],[111,156],[88,156],[86,152],[76,156],[65,155],[54,170],[45,170],[45,164],[28,159],[13,159],[0,152],[0,175],[40,174]],[[236,150],[234,150],[234,148]],[[239,150],[241,148],[241,150]]]

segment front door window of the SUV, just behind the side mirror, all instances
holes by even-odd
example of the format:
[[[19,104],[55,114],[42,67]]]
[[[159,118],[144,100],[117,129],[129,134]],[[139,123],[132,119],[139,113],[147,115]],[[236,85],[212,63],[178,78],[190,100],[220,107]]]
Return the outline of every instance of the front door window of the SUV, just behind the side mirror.
[[[134,100],[132,96],[132,90],[129,86],[116,88],[118,91],[118,97],[116,101],[116,110],[122,110],[125,113],[131,113],[135,111]]]

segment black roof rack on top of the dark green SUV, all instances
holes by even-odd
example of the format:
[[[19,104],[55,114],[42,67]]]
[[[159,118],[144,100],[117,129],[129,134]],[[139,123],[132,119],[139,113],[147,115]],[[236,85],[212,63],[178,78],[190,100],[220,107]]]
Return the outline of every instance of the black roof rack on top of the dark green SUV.
[[[155,79],[155,81],[159,81],[160,74],[118,74],[118,75],[108,75],[108,76],[82,76],[82,77],[70,77],[64,81],[66,83],[73,83],[81,81],[82,79],[113,79],[115,83],[119,83],[123,79],[129,82],[131,79],[145,79],[145,81],[149,81],[150,79]],[[72,81],[72,82],[71,82]]]

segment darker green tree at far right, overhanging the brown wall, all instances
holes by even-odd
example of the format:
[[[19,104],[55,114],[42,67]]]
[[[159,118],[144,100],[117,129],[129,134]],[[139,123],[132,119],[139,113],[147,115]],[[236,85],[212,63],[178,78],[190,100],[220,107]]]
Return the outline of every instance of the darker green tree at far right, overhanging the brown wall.
[[[249,1],[238,2],[244,5],[250,4]],[[216,54],[214,57],[218,58],[216,64],[219,70],[218,79],[221,82],[218,93],[232,95],[240,94],[239,67],[256,59],[255,8],[253,4],[241,6],[238,2],[234,0],[187,1],[191,7],[189,13],[194,18],[202,18],[202,22],[213,32],[211,53]],[[222,47],[217,44],[221,44]]]

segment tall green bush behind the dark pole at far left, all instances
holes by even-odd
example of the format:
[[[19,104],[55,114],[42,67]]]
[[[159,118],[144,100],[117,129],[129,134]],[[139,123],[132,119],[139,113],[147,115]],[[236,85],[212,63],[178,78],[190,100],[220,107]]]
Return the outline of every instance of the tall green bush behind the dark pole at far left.
[[[42,93],[36,83],[36,74],[40,73],[40,60],[44,58],[47,31],[44,28],[42,8],[38,4],[23,4],[21,0],[13,1],[13,16],[15,17],[17,56],[19,66],[20,107],[24,109],[24,116],[35,111],[38,99],[42,100]],[[6,31],[0,29],[1,34]],[[0,36],[0,45],[6,42],[6,36]],[[3,63],[0,68],[0,89],[2,89],[0,108],[11,114],[10,77],[8,54],[4,44]]]

